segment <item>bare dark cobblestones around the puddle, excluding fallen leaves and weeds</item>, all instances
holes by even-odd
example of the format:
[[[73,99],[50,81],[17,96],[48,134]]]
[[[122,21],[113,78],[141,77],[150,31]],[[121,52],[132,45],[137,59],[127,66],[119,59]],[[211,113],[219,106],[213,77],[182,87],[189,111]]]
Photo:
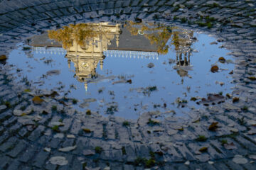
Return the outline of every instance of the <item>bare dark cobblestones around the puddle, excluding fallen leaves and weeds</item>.
[[[96,2],[96,3],[95,3]],[[90,118],[80,120],[73,115],[58,115],[50,113],[33,125],[21,125],[13,115],[14,107],[19,103],[16,93],[19,88],[11,90],[9,86],[0,86],[0,96],[5,101],[11,100],[11,108],[0,105],[0,169],[56,169],[57,166],[48,163],[54,156],[63,156],[68,159],[67,166],[58,169],[82,169],[82,164],[87,167],[104,169],[110,164],[111,169],[144,169],[136,166],[138,158],[150,159],[152,152],[156,162],[163,161],[162,169],[255,169],[255,163],[238,165],[232,162],[235,154],[242,154],[249,161],[248,154],[256,152],[256,136],[248,135],[248,128],[254,127],[242,123],[245,120],[256,120],[255,116],[255,82],[247,79],[247,73],[255,73],[255,2],[254,1],[218,1],[218,4],[209,4],[201,1],[0,1],[0,53],[7,54],[20,40],[18,37],[28,38],[35,33],[41,33],[48,28],[65,26],[75,21],[120,21],[123,18],[146,18],[154,20],[159,18],[170,22],[176,17],[176,23],[184,28],[194,27],[205,33],[222,38],[225,47],[233,51],[236,57],[233,78],[235,89],[233,94],[240,95],[239,103],[225,102],[217,108],[208,108],[202,112],[208,115],[208,120],[201,120],[199,124],[186,122],[189,128],[182,132],[173,130],[174,121],[166,121],[163,127],[149,135],[147,125],[132,122],[131,128],[125,128],[117,120],[108,118]],[[174,6],[174,4],[176,4]],[[254,6],[252,6],[252,5]],[[182,10],[181,10],[182,8]],[[198,12],[216,19],[213,28],[198,27],[196,23],[179,23],[183,17],[198,21]],[[248,15],[247,15],[248,13]],[[157,17],[156,17],[157,16]],[[50,21],[50,22],[49,22]],[[9,42],[9,43],[6,43]],[[0,54],[1,55],[1,54]],[[250,62],[251,61],[251,62]],[[5,72],[4,72],[5,70]],[[11,69],[0,67],[0,82],[4,84],[4,74],[12,79],[9,74]],[[11,81],[10,81],[11,84]],[[10,85],[12,86],[12,85]],[[24,85],[25,86],[25,85]],[[24,89],[24,88],[23,88]],[[19,90],[18,93],[20,93]],[[26,98],[31,99],[31,96]],[[26,104],[23,104],[26,106]],[[241,107],[250,106],[248,111]],[[19,109],[19,108],[18,108]],[[68,109],[68,108],[67,108]],[[68,111],[67,111],[68,112]],[[72,113],[72,111],[70,111]],[[199,114],[198,112],[197,114]],[[50,123],[63,118],[64,126],[59,130],[63,138],[53,138],[56,132]],[[99,121],[95,121],[96,119]],[[104,119],[104,121],[100,121]],[[208,132],[205,126],[210,120],[218,121],[221,125],[217,132]],[[91,123],[90,123],[91,121]],[[94,125],[93,125],[94,124]],[[90,128],[93,132],[86,134],[82,128]],[[168,128],[167,128],[168,127]],[[234,128],[238,132],[234,131]],[[47,132],[47,136],[44,135]],[[75,138],[66,138],[73,134]],[[204,135],[206,142],[196,142],[199,135]],[[238,149],[228,150],[221,145],[222,140],[233,142]],[[78,147],[68,154],[59,153],[61,147]],[[198,153],[198,149],[207,146],[206,153]],[[50,147],[52,152],[43,151]],[[101,154],[83,154],[85,150],[95,153],[95,147],[102,147]],[[86,152],[85,152],[86,153]],[[160,156],[159,156],[160,155]],[[190,165],[184,162],[190,160]],[[208,160],[214,164],[208,164]],[[10,163],[11,162],[11,163]],[[117,163],[115,163],[117,162]],[[205,162],[205,163],[203,163]],[[120,163],[120,164],[119,164]],[[122,164],[121,164],[122,163]],[[125,164],[128,163],[128,164]],[[155,167],[156,168],[156,167]]]

